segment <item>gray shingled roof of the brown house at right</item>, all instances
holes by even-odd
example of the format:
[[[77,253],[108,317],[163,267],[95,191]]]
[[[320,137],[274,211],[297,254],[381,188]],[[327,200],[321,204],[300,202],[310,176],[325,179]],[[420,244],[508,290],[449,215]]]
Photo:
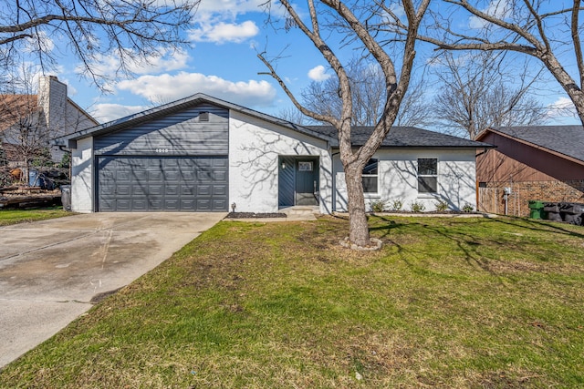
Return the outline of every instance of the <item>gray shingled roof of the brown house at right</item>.
[[[584,161],[584,128],[582,126],[494,127],[485,129],[477,138],[485,138],[488,132],[494,132],[506,138],[515,138],[530,146]]]

